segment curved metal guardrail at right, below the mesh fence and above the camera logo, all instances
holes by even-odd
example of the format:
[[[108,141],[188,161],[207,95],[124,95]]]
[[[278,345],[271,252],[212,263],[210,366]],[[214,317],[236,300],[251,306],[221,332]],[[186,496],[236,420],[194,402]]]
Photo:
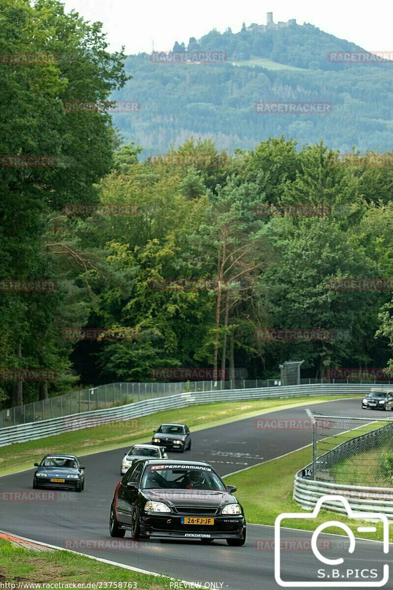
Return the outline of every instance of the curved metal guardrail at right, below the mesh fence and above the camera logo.
[[[329,481],[306,480],[300,474],[301,471],[295,476],[293,499],[302,506],[303,510],[312,510],[318,499],[325,494],[338,494],[344,496],[349,506],[358,512],[380,512],[393,521],[392,488],[344,486]],[[335,500],[326,500],[323,507],[331,512],[346,514],[343,505]]]

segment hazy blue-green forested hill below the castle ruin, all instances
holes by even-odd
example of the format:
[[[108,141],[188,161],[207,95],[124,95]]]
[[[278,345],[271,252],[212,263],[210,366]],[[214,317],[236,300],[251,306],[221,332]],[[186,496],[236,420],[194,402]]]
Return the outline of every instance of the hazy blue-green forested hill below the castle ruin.
[[[342,153],[352,146],[361,152],[391,149],[392,61],[332,63],[330,51],[360,48],[312,25],[211,31],[199,41],[174,45],[174,50],[185,48],[224,51],[227,61],[155,63],[146,53],[130,55],[126,71],[133,80],[113,93],[114,100],[139,103],[137,112],[114,114],[114,123],[126,142],[143,146],[143,157],[165,153],[170,143],[177,147],[191,135],[208,139],[212,134],[217,148],[230,152],[281,135],[299,145],[323,138]],[[266,114],[255,112],[258,101],[332,106],[325,114]]]

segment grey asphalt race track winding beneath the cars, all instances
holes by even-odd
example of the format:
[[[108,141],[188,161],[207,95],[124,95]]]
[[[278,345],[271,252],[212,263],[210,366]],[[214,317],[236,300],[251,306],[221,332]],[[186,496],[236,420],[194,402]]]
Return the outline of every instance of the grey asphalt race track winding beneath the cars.
[[[378,415],[391,416],[387,412],[362,410],[360,399],[343,399],[282,409],[263,414],[263,419],[305,419],[306,407],[333,415],[364,415],[370,420]],[[255,428],[256,419],[247,418],[197,431],[192,435],[191,451],[185,454],[171,453],[170,457],[207,461],[224,476],[279,457],[311,442],[311,431],[261,431]],[[0,529],[60,547],[65,547],[70,539],[114,540],[108,531],[109,510],[115,486],[120,480],[121,458],[128,448],[84,457],[82,463],[86,467],[86,485],[82,493],[60,491],[55,501],[41,503],[1,501]],[[42,453],[37,460],[41,460],[42,455],[50,451],[61,449],[47,449],[43,440]],[[78,454],[78,449],[75,449],[75,454]],[[32,474],[33,470],[29,470],[0,478],[0,491],[31,490]],[[311,533],[299,530],[286,529],[284,533],[286,542],[311,539]],[[330,543],[330,559],[344,556],[343,546],[346,542],[341,537],[321,537],[326,543]],[[130,533],[126,533],[125,539],[130,540]],[[212,545],[202,545],[199,541],[188,540],[141,540],[131,550],[77,550],[113,562],[200,583],[202,588],[205,585],[206,588],[228,590],[277,590],[280,586],[274,578],[274,552],[271,550],[273,539],[273,527],[247,525],[246,545],[240,548],[229,547],[226,542],[219,541]],[[316,572],[319,568],[325,567],[326,572],[331,569],[331,566],[318,562],[311,550],[305,550],[304,543],[302,547],[303,550],[300,551],[286,552],[282,563],[283,579],[300,582],[301,586],[305,581],[318,579]],[[391,557],[382,553],[381,543],[356,540],[355,553],[348,559],[348,568],[372,568],[388,563],[389,560]],[[121,580],[121,573],[118,580]],[[384,588],[393,588],[393,581],[389,581]]]

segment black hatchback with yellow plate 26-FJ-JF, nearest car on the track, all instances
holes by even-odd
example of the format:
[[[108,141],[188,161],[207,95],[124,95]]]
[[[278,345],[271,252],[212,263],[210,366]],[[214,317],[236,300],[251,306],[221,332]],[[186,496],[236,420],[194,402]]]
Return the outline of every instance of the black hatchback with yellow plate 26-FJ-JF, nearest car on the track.
[[[207,463],[141,459],[115,489],[110,534],[124,537],[246,541],[246,519],[233,496]]]

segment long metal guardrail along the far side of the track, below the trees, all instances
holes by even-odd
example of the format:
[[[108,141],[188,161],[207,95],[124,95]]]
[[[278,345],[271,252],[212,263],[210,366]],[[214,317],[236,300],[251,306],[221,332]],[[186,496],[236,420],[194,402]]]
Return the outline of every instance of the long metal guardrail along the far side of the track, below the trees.
[[[0,447],[14,442],[26,442],[104,424],[105,422],[141,418],[166,409],[184,408],[194,404],[209,404],[217,401],[239,401],[242,399],[288,398],[312,395],[363,394],[369,385],[334,385],[319,383],[312,385],[288,385],[253,389],[232,389],[222,391],[186,392],[166,397],[146,399],[133,404],[114,408],[103,408],[90,412],[79,412],[58,418],[18,424],[0,429]]]

